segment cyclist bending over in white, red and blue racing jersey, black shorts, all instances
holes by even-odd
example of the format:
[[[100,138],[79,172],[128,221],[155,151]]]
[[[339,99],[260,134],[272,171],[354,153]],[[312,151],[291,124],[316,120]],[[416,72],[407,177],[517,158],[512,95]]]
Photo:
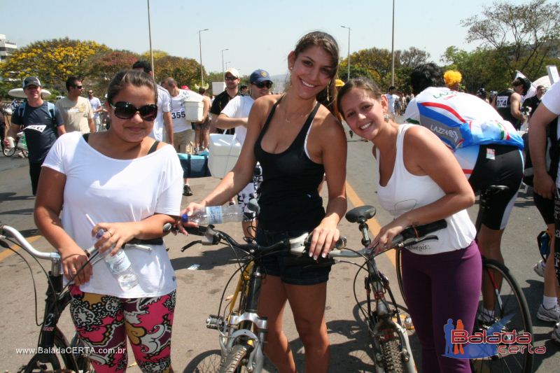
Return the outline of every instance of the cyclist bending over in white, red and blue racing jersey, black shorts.
[[[451,149],[475,193],[490,185],[509,189],[489,197],[479,209],[478,244],[486,258],[503,262],[502,234],[523,176],[523,140],[513,125],[472,94],[443,87],[442,72],[423,64],[411,74],[414,99],[405,120],[427,127]]]

